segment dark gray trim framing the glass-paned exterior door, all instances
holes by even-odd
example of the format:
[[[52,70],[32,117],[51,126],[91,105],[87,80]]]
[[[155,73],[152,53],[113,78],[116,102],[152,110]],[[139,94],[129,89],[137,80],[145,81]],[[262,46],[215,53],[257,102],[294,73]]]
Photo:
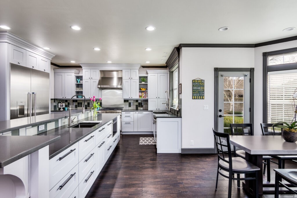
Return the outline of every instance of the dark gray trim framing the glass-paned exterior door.
[[[255,68],[214,68],[214,130],[218,130],[218,116],[219,116],[219,72],[250,72],[250,93],[249,106],[251,108],[249,113],[250,123],[254,125],[254,77]]]

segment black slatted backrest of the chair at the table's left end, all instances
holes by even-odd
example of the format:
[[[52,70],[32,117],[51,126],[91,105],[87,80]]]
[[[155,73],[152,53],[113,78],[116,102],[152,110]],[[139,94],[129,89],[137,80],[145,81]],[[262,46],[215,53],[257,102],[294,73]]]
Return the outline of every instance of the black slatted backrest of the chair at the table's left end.
[[[218,160],[221,159],[227,162],[229,169],[232,170],[232,153],[229,134],[216,132],[214,128],[212,128],[212,132],[214,133],[214,141],[216,142]],[[228,158],[228,160],[226,158]]]

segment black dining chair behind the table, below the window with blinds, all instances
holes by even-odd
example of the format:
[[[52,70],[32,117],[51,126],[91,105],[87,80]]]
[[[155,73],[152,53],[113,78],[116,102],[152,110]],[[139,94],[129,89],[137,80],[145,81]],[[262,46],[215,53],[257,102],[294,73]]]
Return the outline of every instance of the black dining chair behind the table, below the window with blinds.
[[[261,125],[263,135],[282,135],[282,129],[279,128],[279,130],[276,131],[275,128],[278,128],[278,127],[273,126],[273,123],[260,123],[260,125]],[[280,125],[283,125],[283,124],[280,123]],[[273,160],[271,160],[271,162],[278,164],[279,169],[285,168],[285,160],[291,160],[291,161],[297,162],[296,155],[278,155],[278,156],[272,156],[272,157],[278,160],[278,162],[275,162]]]

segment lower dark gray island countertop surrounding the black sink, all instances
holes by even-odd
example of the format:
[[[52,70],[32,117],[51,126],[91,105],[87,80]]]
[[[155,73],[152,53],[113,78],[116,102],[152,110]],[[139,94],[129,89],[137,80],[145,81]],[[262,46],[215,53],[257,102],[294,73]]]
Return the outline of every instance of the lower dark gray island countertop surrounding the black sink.
[[[67,125],[61,126],[56,129],[49,130],[44,133],[40,133],[37,136],[51,136],[51,135],[60,135],[61,139],[53,142],[49,146],[49,159],[53,158],[54,156],[58,155],[65,149],[69,148],[71,145],[75,144],[79,140],[83,139],[90,133],[94,132],[99,127],[103,126],[104,124],[111,121],[113,118],[116,118],[118,113],[98,113],[97,118],[94,117],[88,117],[84,120],[80,120],[78,122],[82,121],[102,121],[101,123],[91,127],[91,128],[68,128]],[[74,122],[75,124],[77,122]],[[119,121],[118,121],[119,123]]]

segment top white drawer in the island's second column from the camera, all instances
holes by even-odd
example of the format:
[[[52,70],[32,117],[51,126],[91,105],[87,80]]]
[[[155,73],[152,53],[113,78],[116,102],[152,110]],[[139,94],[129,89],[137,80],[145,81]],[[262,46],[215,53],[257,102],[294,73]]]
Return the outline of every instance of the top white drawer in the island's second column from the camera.
[[[79,161],[81,161],[95,147],[95,132],[89,134],[78,142]]]

